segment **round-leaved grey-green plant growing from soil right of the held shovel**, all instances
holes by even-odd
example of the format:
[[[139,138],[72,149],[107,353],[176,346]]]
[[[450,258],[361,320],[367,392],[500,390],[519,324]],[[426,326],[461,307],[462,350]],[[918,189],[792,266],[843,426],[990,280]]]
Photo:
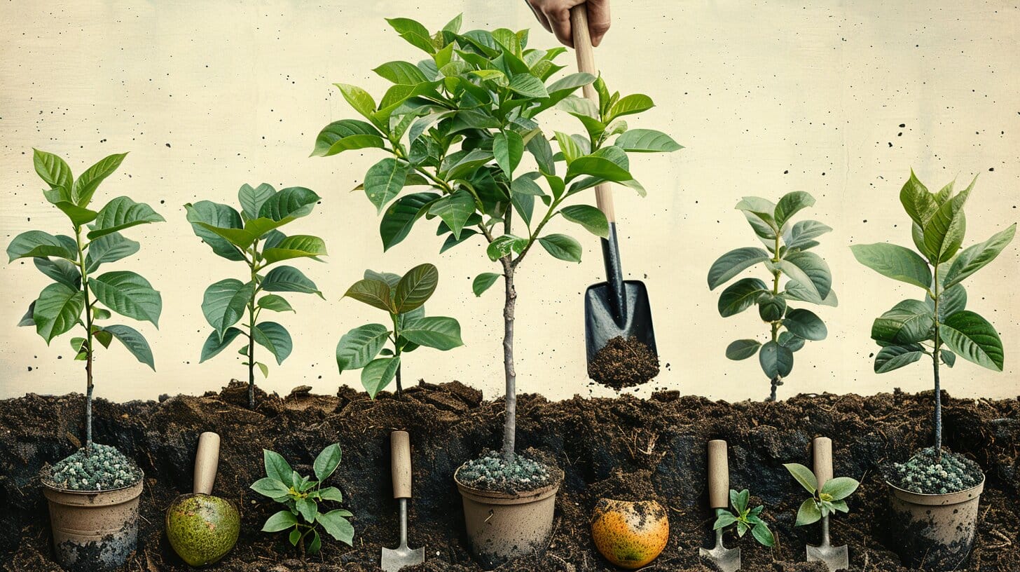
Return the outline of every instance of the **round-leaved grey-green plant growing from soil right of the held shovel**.
[[[770,285],[758,278],[742,278],[730,284],[719,295],[718,306],[719,315],[728,318],[758,305],[758,316],[768,324],[769,339],[764,344],[757,339],[733,341],[726,347],[726,358],[747,360],[757,353],[771,382],[769,399],[773,401],[776,387],[794,370],[794,352],[804,347],[806,340],[823,340],[828,335],[825,323],[815,313],[790,307],[788,302],[838,303],[828,265],[809,252],[818,246],[815,239],[832,229],[818,221],[792,221],[794,214],[814,203],[814,197],[803,191],[787,193],[775,204],[764,198],[744,197],[736,209],[744,212],[765,250],[754,246],[730,250],[708,271],[710,290],[755,265],[763,265],[771,275]],[[780,290],[783,278],[787,280]]]

